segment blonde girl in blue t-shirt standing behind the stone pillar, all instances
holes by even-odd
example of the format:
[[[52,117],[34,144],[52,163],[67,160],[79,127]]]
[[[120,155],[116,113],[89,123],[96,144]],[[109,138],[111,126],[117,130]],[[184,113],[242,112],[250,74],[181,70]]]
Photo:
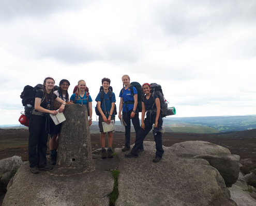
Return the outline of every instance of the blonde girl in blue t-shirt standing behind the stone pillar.
[[[84,80],[79,80],[78,81],[78,90],[77,90],[77,93],[78,93],[78,96],[77,96],[77,99],[75,101],[75,98],[76,98],[76,93],[72,94],[71,97],[70,97],[70,102],[74,102],[74,104],[80,104],[80,105],[87,105],[88,104],[88,107],[87,109],[89,110],[89,126],[92,125],[92,121],[93,121],[93,107],[92,107],[92,97],[90,95],[88,95],[88,102],[87,102],[87,92],[85,91],[86,89],[86,83]]]

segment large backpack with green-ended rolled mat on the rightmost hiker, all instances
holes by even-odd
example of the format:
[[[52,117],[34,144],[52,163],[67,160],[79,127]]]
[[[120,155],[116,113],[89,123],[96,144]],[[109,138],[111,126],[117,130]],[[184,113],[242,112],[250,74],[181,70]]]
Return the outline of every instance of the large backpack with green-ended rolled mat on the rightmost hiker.
[[[163,91],[162,91],[161,85],[157,84],[157,83],[150,83],[150,87],[151,87],[150,93],[152,93],[152,97],[154,99],[154,104],[152,106],[152,109],[156,104],[156,101],[155,101],[155,94],[156,94],[159,97],[159,100],[160,100],[160,107],[161,107],[162,116],[165,117],[165,116],[176,114],[176,110],[175,110],[174,107],[168,108],[168,103],[169,102],[163,96]]]

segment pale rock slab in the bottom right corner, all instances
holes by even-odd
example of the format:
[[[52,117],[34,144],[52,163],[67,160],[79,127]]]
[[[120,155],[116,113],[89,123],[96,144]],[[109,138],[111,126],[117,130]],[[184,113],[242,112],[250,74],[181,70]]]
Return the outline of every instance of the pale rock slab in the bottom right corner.
[[[250,196],[243,188],[233,184],[229,187],[231,199],[234,200],[238,206],[255,206],[256,200]]]

